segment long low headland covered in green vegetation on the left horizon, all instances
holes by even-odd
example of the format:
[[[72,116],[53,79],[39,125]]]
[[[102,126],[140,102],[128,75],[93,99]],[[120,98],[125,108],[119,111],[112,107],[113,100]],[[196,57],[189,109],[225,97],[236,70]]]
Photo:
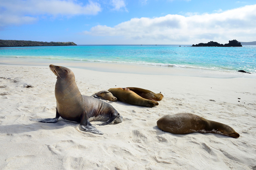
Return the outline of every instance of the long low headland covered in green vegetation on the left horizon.
[[[2,40],[0,47],[24,47],[24,46],[76,46],[73,42],[42,42],[42,41],[24,41],[24,40]]]

